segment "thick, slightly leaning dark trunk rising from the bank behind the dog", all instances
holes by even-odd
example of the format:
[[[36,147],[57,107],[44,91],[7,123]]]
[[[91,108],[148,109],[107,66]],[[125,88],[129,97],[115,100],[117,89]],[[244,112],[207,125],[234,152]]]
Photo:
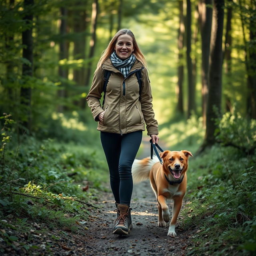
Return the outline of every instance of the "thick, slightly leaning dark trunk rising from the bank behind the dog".
[[[207,146],[215,143],[214,131],[217,127],[214,119],[218,118],[221,112],[223,20],[224,0],[214,0],[209,95],[206,112],[206,136],[204,141]]]

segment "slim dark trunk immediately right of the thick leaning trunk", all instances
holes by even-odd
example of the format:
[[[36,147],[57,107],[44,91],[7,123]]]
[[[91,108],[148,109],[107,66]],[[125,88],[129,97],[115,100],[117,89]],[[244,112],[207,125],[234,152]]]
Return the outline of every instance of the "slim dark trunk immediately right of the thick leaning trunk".
[[[223,54],[223,60],[226,60],[225,63],[225,74],[227,76],[227,87],[228,92],[232,91],[232,82],[231,82],[231,44],[232,44],[232,36],[231,36],[231,19],[232,19],[232,4],[233,0],[228,0],[227,6],[227,21],[226,21],[226,35],[225,35],[225,48]],[[230,97],[225,94],[225,108],[226,111],[232,110],[232,104]]]

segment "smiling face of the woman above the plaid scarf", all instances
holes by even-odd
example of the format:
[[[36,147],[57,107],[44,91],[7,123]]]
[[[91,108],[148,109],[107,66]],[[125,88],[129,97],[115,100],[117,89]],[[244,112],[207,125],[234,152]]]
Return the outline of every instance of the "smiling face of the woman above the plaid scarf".
[[[114,49],[120,59],[125,60],[129,58],[134,51],[132,37],[128,34],[118,36]]]

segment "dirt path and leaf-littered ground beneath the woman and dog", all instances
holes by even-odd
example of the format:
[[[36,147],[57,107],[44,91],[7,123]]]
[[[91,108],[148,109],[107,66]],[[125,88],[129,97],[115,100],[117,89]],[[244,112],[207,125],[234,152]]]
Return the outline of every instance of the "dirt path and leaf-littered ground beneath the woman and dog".
[[[140,158],[150,154],[148,138],[142,143],[143,152]],[[163,147],[161,143],[160,145]],[[5,222],[4,228],[0,228],[0,232],[6,234],[10,240],[6,244],[0,238],[0,247],[4,246],[2,255],[182,256],[190,251],[193,246],[192,239],[198,229],[182,230],[182,217],[179,217],[177,236],[167,236],[168,224],[164,228],[158,227],[158,207],[149,180],[134,184],[131,233],[128,236],[114,235],[112,231],[116,218],[115,204],[109,184],[106,186],[109,191],[100,192],[101,199],[92,202],[100,208],[90,208],[89,219],[83,225],[77,223],[79,228],[75,232],[67,227],[49,230],[41,222],[26,222],[26,228],[22,228],[22,225],[12,225],[10,214],[9,219],[2,220]],[[186,199],[183,207],[184,204]],[[169,201],[168,205],[171,212],[172,202]]]

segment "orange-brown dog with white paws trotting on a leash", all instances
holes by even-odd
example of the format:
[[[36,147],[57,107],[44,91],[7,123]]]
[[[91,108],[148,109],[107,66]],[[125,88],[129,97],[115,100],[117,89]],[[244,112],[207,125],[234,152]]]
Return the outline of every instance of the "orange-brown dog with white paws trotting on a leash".
[[[192,154],[187,150],[166,150],[160,153],[163,165],[156,156],[153,159],[135,159],[132,165],[134,183],[150,179],[151,187],[158,202],[158,226],[164,227],[165,222],[170,220],[166,199],[172,198],[174,200],[168,236],[176,236],[175,226],[186,193],[186,171],[188,170],[189,156],[192,156]]]

